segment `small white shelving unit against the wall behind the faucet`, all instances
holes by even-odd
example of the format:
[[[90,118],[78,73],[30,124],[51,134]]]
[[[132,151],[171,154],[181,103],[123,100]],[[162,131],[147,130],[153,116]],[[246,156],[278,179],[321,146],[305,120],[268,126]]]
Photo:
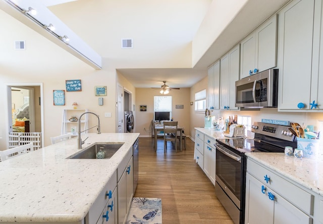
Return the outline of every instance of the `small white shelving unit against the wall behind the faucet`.
[[[69,119],[71,119],[72,117],[76,117],[77,119],[79,119],[80,116],[85,112],[88,112],[88,110],[87,109],[63,109],[61,134],[64,135],[67,133],[71,133],[72,136],[77,136],[78,121],[72,122]],[[81,131],[88,129],[88,114],[85,114],[82,116],[81,125],[82,125]],[[84,133],[87,133],[87,131]]]

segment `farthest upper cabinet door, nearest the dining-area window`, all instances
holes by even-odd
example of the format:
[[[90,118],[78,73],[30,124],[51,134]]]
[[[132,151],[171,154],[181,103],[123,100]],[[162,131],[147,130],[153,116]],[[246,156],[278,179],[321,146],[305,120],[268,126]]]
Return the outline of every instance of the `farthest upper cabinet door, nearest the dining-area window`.
[[[220,108],[220,60],[208,68],[208,108]]]

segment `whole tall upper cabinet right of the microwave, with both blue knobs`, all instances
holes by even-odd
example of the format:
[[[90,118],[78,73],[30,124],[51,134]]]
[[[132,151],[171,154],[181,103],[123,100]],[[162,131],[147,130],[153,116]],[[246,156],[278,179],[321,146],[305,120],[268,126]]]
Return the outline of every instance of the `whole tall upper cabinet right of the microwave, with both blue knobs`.
[[[279,12],[279,110],[321,111],[321,10],[322,1],[295,0]]]

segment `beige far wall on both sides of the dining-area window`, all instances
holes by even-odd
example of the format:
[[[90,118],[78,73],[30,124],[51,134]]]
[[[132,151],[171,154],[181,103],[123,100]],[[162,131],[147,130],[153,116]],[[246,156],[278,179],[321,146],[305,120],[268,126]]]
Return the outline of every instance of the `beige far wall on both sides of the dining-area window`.
[[[141,137],[151,137],[150,122],[153,119],[153,97],[160,96],[158,90],[137,88],[136,89],[136,117],[134,132],[140,133]],[[184,132],[189,135],[190,130],[190,89],[181,88],[171,90],[168,95],[172,96],[172,117],[178,121],[178,125],[184,127]],[[140,105],[147,105],[147,111],[140,111]],[[176,105],[184,105],[183,109],[176,109]],[[145,129],[144,129],[145,128]]]

